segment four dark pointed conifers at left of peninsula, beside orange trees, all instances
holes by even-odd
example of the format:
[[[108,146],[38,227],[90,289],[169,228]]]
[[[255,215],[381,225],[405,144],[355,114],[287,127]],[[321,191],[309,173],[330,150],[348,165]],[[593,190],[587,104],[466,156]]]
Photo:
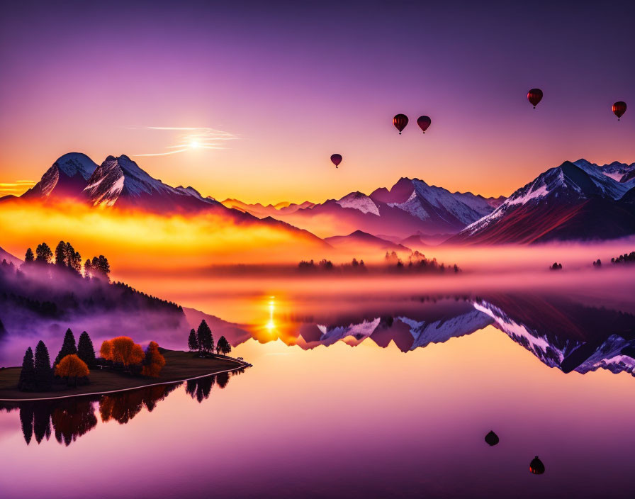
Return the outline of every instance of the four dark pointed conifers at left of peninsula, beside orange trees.
[[[55,368],[68,355],[77,356],[88,367],[95,365],[95,349],[86,331],[79,335],[79,342],[76,344],[73,332],[70,329],[67,330],[62,348],[52,366],[48,349],[42,340],[35,347],[35,355],[31,347],[28,347],[22,361],[18,388],[21,391],[49,391],[52,388]]]

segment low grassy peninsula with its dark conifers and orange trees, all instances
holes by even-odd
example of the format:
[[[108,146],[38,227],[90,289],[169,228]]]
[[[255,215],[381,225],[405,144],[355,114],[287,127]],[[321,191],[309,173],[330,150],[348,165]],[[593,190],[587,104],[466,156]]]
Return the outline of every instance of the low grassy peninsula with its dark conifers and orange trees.
[[[79,338],[76,345],[72,331],[67,330],[52,365],[48,349],[40,340],[35,355],[30,347],[26,350],[21,367],[0,369],[0,401],[113,393],[250,366],[224,355],[231,350],[229,342],[221,336],[215,344],[205,320],[198,330],[191,330],[189,352],[162,349],[156,342],[143,349],[130,337],[119,336],[105,340],[96,357],[88,333],[82,332]]]

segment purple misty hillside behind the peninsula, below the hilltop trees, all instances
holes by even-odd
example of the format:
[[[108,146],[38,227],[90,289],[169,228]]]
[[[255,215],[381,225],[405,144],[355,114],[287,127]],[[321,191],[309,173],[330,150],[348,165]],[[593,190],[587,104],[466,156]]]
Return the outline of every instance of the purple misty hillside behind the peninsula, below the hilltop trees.
[[[96,350],[103,340],[120,335],[142,346],[156,341],[186,349],[189,330],[198,325],[176,303],[42,263],[21,269],[0,264],[0,320],[0,366],[20,364],[25,350],[35,349],[40,340],[55,358],[68,328],[76,339],[89,332]],[[218,318],[213,324],[219,332],[230,327]]]

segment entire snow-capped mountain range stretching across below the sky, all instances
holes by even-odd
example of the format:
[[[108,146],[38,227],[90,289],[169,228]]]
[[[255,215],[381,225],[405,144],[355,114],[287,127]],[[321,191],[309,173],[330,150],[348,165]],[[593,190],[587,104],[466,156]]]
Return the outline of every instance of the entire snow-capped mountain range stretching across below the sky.
[[[193,187],[172,187],[128,156],[100,165],[88,156],[63,155],[20,198],[71,199],[151,213],[218,213],[236,223],[275,226],[327,245],[396,250],[455,245],[612,239],[635,234],[635,163],[599,166],[585,159],[546,170],[509,198],[484,198],[401,178],[390,189],[353,191],[323,203],[264,206],[237,199],[218,202]],[[378,237],[372,240],[370,237]],[[395,245],[395,247],[391,247]]]

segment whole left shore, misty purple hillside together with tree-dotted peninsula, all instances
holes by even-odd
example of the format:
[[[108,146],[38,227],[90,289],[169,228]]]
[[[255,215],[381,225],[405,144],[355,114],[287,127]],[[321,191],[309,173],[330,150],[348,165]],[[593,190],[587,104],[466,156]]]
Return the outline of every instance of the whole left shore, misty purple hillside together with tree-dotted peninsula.
[[[222,334],[215,342],[205,320],[188,337],[189,324],[181,306],[111,282],[110,272],[105,256],[82,264],[79,252],[64,241],[55,252],[45,242],[35,252],[29,248],[21,264],[0,262],[0,340],[9,335],[35,338],[26,348],[21,367],[0,367],[0,400],[110,393],[249,365],[226,357],[230,343]],[[120,335],[99,346],[84,331],[76,342],[72,325],[77,323],[88,324],[82,329],[94,331],[99,338],[114,330],[132,332],[140,340]],[[63,340],[62,332],[56,333],[52,325],[64,325]],[[189,352],[163,349],[152,340],[166,332],[181,337]],[[61,343],[54,360],[55,351],[49,352],[47,343],[55,348]]]

